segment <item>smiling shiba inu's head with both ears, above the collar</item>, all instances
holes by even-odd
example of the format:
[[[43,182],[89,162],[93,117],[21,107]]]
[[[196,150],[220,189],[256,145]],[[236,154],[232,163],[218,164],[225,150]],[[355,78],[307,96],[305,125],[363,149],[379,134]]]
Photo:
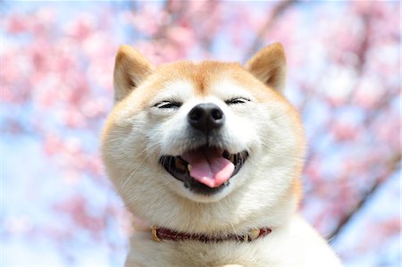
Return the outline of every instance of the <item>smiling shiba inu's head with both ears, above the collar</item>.
[[[281,45],[266,47],[245,67],[157,68],[121,46],[102,152],[129,209],[177,229],[172,214],[195,207],[209,216],[214,209],[249,213],[256,207],[248,205],[267,208],[297,195],[305,141],[297,113],[281,95],[284,76]]]

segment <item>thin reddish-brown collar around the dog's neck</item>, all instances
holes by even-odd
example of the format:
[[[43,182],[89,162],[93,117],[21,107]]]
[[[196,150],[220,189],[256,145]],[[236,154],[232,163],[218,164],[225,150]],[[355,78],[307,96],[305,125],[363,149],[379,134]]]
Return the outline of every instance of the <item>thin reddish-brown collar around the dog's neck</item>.
[[[156,242],[161,242],[162,240],[172,240],[172,241],[184,241],[184,240],[197,240],[204,243],[214,243],[222,241],[238,241],[238,242],[250,242],[256,238],[264,238],[272,232],[272,229],[261,228],[261,229],[250,229],[244,235],[229,234],[227,236],[208,236],[205,234],[189,234],[178,232],[172,229],[159,228],[157,226],[151,227],[152,238]]]

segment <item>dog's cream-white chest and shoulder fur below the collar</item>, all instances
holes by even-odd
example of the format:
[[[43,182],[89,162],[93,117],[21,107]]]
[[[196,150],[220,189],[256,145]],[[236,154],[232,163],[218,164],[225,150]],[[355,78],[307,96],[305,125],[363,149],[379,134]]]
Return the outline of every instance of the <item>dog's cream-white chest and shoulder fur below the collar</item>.
[[[265,238],[251,243],[198,241],[157,243],[150,233],[130,239],[126,266],[341,266],[326,242],[296,215],[289,225],[272,229]]]

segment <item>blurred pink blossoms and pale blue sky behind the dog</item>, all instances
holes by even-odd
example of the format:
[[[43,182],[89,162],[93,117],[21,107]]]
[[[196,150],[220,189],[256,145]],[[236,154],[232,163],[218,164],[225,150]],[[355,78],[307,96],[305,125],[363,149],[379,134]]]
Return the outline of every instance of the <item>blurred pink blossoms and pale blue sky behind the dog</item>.
[[[1,266],[122,266],[130,215],[98,152],[118,46],[245,63],[273,42],[309,140],[300,213],[345,265],[400,265],[400,2],[0,5]]]

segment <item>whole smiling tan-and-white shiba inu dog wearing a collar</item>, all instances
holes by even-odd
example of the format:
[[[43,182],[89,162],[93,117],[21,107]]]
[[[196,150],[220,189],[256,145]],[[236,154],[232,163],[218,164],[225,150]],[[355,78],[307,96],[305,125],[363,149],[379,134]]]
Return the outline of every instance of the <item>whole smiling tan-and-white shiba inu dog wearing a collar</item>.
[[[126,266],[341,265],[296,213],[306,141],[285,72],[280,44],[244,66],[154,67],[120,47],[102,154],[147,226]]]

